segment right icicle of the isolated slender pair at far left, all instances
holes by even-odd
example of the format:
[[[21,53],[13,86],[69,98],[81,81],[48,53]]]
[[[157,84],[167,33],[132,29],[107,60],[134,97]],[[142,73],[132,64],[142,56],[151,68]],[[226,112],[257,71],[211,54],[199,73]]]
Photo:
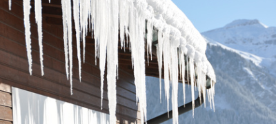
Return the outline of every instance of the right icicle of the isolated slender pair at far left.
[[[41,75],[44,75],[43,70],[43,45],[42,45],[42,4],[41,0],[34,0],[35,6],[35,20],[37,22],[37,32],[39,34],[39,58],[40,58],[40,66],[41,66]]]

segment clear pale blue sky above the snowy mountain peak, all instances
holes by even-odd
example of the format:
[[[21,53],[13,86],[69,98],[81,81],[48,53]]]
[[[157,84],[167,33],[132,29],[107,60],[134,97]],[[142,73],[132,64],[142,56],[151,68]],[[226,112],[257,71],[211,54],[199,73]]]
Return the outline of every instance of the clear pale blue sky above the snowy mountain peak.
[[[172,0],[199,32],[221,28],[236,19],[258,19],[276,26],[276,0]]]

